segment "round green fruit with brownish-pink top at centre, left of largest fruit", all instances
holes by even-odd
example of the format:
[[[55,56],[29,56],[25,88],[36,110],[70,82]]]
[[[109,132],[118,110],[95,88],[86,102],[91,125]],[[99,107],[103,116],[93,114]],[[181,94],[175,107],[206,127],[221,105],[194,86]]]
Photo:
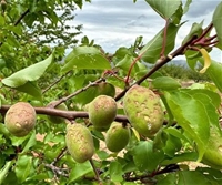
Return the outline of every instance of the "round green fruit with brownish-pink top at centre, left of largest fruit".
[[[97,131],[107,131],[117,116],[113,97],[99,95],[89,104],[89,120]]]

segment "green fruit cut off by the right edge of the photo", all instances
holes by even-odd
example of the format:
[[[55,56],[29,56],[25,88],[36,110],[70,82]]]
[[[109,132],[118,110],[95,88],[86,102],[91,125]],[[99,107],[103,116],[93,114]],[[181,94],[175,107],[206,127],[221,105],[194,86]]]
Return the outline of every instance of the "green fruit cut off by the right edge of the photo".
[[[222,169],[222,132],[215,126],[211,126],[208,148],[202,162],[213,168]]]

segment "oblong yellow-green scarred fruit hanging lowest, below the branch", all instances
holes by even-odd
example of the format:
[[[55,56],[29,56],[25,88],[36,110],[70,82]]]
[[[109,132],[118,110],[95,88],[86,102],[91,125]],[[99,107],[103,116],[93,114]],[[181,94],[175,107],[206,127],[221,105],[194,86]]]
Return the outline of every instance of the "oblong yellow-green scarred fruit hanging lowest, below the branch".
[[[87,126],[82,124],[68,124],[65,143],[69,153],[78,163],[84,163],[94,154],[92,135]]]

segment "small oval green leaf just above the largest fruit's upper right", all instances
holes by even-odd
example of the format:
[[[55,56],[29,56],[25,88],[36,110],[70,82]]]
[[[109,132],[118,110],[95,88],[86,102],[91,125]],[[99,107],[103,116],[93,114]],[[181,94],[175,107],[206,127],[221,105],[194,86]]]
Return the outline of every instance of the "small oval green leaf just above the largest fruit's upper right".
[[[181,88],[181,84],[173,78],[170,76],[160,76],[153,79],[152,88],[158,90],[175,90]]]

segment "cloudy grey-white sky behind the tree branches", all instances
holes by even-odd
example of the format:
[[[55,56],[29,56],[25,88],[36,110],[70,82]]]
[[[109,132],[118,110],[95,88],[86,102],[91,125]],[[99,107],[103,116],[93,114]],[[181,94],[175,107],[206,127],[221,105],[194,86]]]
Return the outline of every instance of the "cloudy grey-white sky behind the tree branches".
[[[173,0],[172,0],[173,1]],[[182,0],[183,3],[185,0]],[[221,0],[193,0],[182,21],[188,21],[179,30],[175,48],[189,33],[192,23],[204,20],[206,27],[213,11]],[[143,37],[145,44],[163,27],[165,21],[145,2],[145,0],[91,0],[83,8],[75,10],[72,25],[83,24],[82,34],[103,48],[105,52],[114,53],[120,47],[130,47],[137,37]],[[222,52],[218,49],[211,52],[211,58],[222,62]],[[184,59],[179,56],[179,59]]]

